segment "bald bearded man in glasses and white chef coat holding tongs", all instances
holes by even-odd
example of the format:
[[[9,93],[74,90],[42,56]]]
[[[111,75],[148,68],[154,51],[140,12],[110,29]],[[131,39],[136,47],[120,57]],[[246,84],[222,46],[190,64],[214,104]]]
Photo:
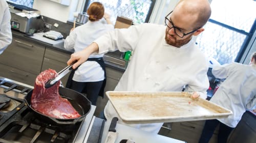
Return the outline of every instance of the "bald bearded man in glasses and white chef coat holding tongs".
[[[165,18],[165,24],[144,23],[129,28],[115,29],[96,39],[80,52],[71,54],[67,62],[78,65],[91,53],[132,50],[130,62],[115,91],[185,91],[206,98],[209,88],[208,60],[197,44],[191,40],[204,31],[203,25],[210,17],[207,0],[180,1]],[[119,117],[109,101],[104,108],[107,120]],[[121,120],[120,124],[125,124]],[[129,124],[152,133],[158,133],[163,123]],[[128,124],[127,124],[128,125]]]

